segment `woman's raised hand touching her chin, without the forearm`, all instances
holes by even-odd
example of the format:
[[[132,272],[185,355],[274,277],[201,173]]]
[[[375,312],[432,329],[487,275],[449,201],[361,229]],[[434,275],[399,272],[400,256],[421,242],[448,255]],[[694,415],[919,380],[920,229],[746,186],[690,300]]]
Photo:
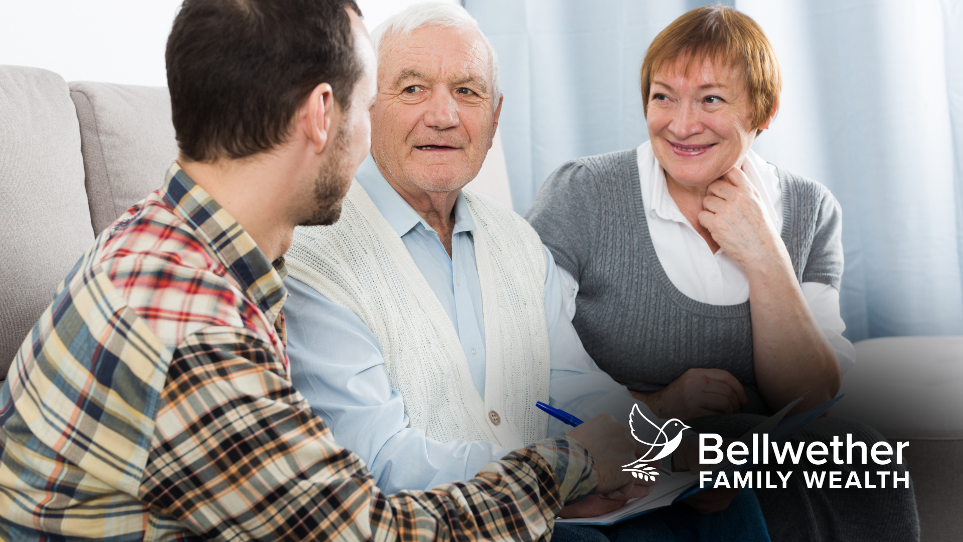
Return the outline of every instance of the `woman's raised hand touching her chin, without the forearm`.
[[[792,271],[793,262],[763,204],[756,187],[734,167],[707,188],[699,224],[746,270],[775,264]]]

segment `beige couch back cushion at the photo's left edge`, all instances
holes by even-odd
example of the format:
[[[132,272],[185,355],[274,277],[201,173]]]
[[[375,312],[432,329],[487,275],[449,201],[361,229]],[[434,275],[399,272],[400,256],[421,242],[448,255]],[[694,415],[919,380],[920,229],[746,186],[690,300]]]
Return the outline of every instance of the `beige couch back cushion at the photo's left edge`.
[[[0,66],[0,378],[93,242],[80,128],[66,82]]]

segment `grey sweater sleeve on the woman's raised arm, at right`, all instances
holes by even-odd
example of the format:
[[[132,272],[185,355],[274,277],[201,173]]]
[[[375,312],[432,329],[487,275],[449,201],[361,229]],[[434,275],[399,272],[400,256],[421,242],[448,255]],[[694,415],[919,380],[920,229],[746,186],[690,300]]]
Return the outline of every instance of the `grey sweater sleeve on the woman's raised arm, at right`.
[[[815,209],[813,244],[802,271],[802,283],[831,285],[837,290],[843,280],[843,210],[828,189]]]

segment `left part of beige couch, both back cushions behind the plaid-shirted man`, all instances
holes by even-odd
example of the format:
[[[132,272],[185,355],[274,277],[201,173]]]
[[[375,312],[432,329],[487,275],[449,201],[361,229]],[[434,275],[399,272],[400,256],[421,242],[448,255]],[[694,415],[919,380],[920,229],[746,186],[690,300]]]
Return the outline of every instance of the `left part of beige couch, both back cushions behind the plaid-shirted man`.
[[[93,237],[176,155],[167,89],[0,67],[0,378]]]

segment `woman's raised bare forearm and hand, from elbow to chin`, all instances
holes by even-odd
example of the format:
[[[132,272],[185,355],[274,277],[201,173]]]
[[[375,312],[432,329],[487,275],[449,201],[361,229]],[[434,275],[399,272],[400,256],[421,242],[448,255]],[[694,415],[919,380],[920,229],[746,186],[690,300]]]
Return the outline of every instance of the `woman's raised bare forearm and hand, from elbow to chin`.
[[[733,168],[709,185],[698,218],[745,269],[756,384],[769,408],[779,410],[809,392],[796,413],[835,396],[842,380],[836,354],[809,310],[786,245],[766,220],[759,192],[742,170]]]

